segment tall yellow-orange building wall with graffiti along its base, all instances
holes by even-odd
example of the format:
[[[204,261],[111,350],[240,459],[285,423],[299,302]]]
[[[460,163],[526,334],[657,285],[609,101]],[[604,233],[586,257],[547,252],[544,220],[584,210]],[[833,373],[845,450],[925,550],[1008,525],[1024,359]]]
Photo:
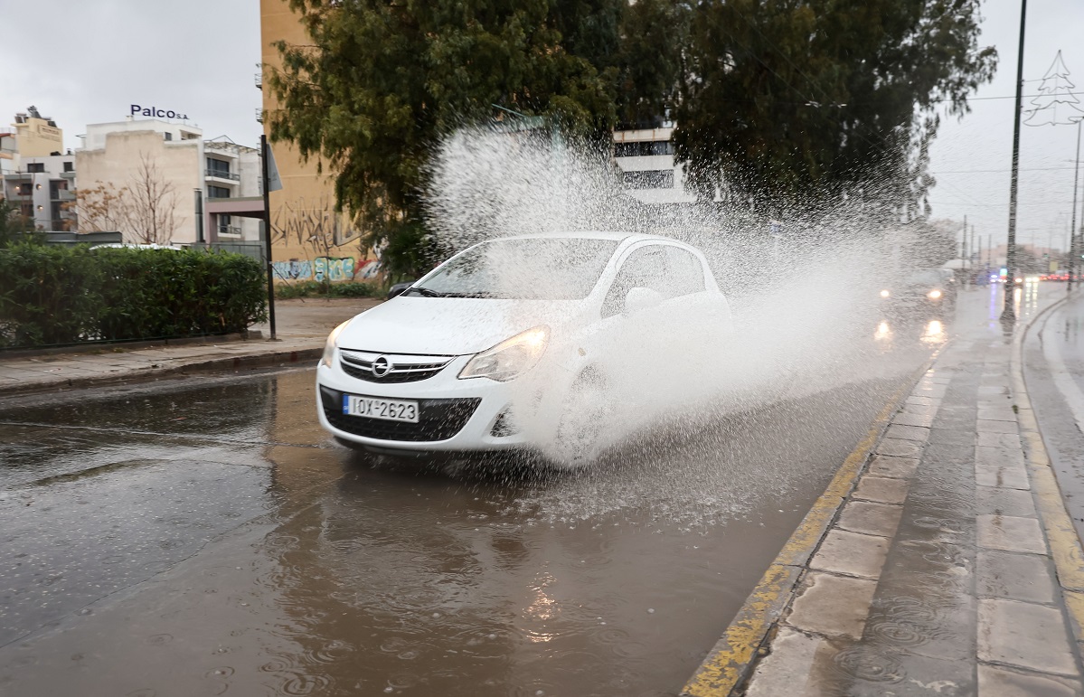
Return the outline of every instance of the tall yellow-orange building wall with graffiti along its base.
[[[282,65],[272,43],[309,43],[298,16],[289,11],[287,0],[260,0],[261,63],[263,64],[263,109],[271,112],[276,102],[268,85],[271,68]],[[269,119],[263,131],[270,138]],[[302,163],[297,151],[285,142],[272,144],[283,189],[271,192],[272,256],[276,280],[320,279],[334,281],[365,280],[377,270],[371,255],[366,258],[354,225],[335,214],[335,189],[332,178],[317,172],[314,159]],[[317,235],[331,243],[310,242]]]

